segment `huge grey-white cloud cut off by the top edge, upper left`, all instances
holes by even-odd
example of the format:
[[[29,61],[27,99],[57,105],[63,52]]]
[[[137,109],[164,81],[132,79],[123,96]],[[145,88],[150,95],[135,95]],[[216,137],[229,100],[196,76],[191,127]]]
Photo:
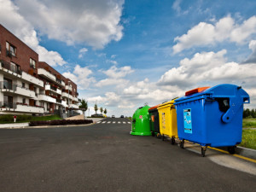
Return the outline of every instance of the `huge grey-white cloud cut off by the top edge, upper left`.
[[[124,0],[15,0],[19,13],[49,38],[102,49],[123,37]]]

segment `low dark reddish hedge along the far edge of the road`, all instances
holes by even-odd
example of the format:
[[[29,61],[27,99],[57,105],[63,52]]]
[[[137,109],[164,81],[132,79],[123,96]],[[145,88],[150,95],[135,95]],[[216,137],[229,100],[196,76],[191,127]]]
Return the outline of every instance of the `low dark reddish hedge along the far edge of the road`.
[[[29,122],[30,126],[39,126],[39,125],[82,125],[82,124],[91,124],[92,120],[89,119],[80,119],[80,120],[44,120],[44,121],[31,121]]]

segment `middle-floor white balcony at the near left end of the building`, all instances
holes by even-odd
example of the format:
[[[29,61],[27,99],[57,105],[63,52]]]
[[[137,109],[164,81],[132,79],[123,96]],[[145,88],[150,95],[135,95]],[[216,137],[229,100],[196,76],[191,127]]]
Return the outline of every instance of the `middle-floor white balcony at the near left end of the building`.
[[[28,90],[25,87],[21,87],[18,84],[9,84],[6,81],[0,82],[0,90],[2,92],[9,92],[11,95],[20,95],[27,97],[35,97],[36,93],[33,90]]]

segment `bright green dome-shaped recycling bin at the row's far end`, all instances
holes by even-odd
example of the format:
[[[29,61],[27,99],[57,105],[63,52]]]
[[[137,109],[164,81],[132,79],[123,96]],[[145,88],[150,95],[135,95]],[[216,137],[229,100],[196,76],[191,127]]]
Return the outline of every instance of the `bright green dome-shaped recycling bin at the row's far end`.
[[[133,136],[151,136],[148,105],[137,108],[132,116],[131,132]]]

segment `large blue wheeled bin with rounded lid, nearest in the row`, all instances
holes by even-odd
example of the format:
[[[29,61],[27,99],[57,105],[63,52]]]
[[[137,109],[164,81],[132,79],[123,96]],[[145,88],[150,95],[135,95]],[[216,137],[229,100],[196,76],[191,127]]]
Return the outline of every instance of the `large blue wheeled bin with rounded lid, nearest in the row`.
[[[184,140],[211,147],[241,143],[243,103],[249,102],[247,92],[234,84],[187,91],[174,103],[181,148]],[[201,149],[203,156],[205,150]]]

